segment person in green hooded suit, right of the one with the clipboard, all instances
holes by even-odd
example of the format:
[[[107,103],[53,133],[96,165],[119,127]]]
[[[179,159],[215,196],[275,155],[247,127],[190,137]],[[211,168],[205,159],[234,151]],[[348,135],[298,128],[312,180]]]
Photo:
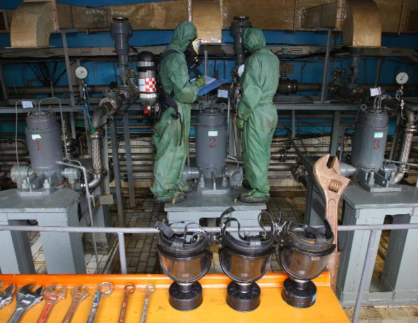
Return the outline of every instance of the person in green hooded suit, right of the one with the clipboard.
[[[238,103],[236,126],[243,132],[245,176],[252,189],[241,194],[240,200],[267,202],[270,199],[267,178],[270,145],[277,126],[273,97],[279,86],[279,59],[265,47],[261,29],[246,29],[242,43],[251,56],[245,60],[240,80],[242,97]]]

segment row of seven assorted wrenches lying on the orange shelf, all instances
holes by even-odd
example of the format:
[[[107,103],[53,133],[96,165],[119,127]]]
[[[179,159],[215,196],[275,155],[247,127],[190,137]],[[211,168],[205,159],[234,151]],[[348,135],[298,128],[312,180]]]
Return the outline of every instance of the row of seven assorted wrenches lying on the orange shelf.
[[[59,301],[65,299],[67,294],[67,287],[65,285],[49,285],[47,287],[40,286],[36,288],[36,283],[31,283],[28,285],[24,285],[15,293],[15,284],[4,286],[3,282],[0,281],[0,309],[4,308],[10,303],[13,302],[13,294],[15,294],[15,303],[16,308],[13,315],[8,319],[8,323],[17,323],[20,322],[22,317],[26,314],[28,310],[30,310],[33,306],[36,306],[38,303],[44,302],[44,307],[38,320],[38,323],[45,323],[49,322],[49,316],[51,315],[54,306]],[[93,323],[95,322],[95,317],[100,310],[100,301],[102,296],[109,296],[113,291],[114,286],[109,282],[103,282],[98,285],[94,297],[93,302],[91,303],[90,312],[88,313],[88,317],[86,318],[86,323]],[[128,283],[125,285],[123,290],[123,301],[121,304],[121,313],[119,315],[118,323],[125,322],[125,315],[127,311],[128,301],[130,295],[133,294],[135,291],[135,285],[132,283]],[[141,322],[146,322],[146,312],[148,308],[148,302],[150,299],[150,295],[155,291],[154,284],[146,285],[145,289],[145,301],[144,301],[144,308],[141,314],[141,317],[138,317],[138,320]],[[70,290],[71,295],[71,303],[70,307],[68,308],[65,317],[62,320],[62,323],[70,323],[75,322],[72,321],[79,304],[82,303],[85,299],[88,298],[88,287],[84,285],[77,285],[72,287]],[[3,321],[2,321],[3,322]],[[35,320],[31,321],[35,322]],[[51,321],[52,322],[52,321]],[[56,320],[54,320],[56,322]],[[79,322],[79,321],[78,321]]]

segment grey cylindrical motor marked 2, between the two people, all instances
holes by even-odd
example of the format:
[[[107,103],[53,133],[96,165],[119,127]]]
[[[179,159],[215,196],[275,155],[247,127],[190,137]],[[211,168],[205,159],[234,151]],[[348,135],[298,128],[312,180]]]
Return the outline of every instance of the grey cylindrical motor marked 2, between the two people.
[[[207,107],[197,117],[196,166],[207,179],[222,177],[226,166],[226,121],[220,107]]]

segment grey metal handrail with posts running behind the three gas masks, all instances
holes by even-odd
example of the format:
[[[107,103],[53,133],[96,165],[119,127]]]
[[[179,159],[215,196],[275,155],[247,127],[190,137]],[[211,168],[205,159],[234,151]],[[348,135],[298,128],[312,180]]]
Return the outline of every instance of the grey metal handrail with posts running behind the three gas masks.
[[[174,232],[182,233],[183,228],[173,227]],[[219,233],[220,227],[189,227],[190,231],[205,230],[209,233]],[[260,227],[240,227],[240,232],[258,231]],[[265,230],[270,230],[266,227]],[[370,231],[369,243],[366,250],[366,259],[362,269],[362,283],[359,285],[355,303],[352,323],[357,323],[362,306],[364,291],[366,290],[366,278],[373,268],[373,246],[376,244],[377,233],[382,230],[418,230],[418,223],[394,224],[394,225],[340,225],[339,232]],[[154,227],[32,227],[26,225],[0,225],[0,232],[68,232],[68,233],[110,233],[118,234],[119,253],[121,259],[121,273],[127,273],[125,236],[124,234],[157,234],[159,231]],[[238,227],[227,227],[226,231],[238,232]]]

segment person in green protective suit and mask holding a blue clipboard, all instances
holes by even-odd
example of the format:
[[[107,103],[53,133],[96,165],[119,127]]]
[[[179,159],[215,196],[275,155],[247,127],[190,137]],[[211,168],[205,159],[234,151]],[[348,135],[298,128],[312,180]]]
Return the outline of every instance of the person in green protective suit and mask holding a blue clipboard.
[[[199,89],[205,84],[201,76],[190,81],[187,68],[186,59],[196,63],[199,45],[194,24],[180,22],[174,30],[173,40],[161,56],[160,81],[177,108],[167,107],[155,125],[153,140],[157,156],[150,190],[157,202],[181,202],[185,200],[184,193],[193,189],[181,176],[189,149],[190,103],[196,100]]]

